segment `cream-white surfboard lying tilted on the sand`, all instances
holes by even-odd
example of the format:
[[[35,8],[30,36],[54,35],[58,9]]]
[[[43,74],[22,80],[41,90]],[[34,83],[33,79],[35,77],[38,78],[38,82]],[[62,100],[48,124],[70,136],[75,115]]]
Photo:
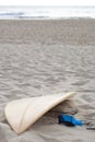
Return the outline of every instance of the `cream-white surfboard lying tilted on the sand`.
[[[16,99],[4,108],[5,118],[17,133],[24,132],[55,106],[75,95],[74,92]]]

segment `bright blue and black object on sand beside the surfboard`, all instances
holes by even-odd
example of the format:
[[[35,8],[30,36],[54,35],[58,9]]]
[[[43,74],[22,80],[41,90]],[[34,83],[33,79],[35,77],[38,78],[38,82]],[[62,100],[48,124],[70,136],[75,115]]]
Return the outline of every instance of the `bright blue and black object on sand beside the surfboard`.
[[[75,119],[71,115],[62,114],[59,116],[59,123],[64,123],[67,126],[82,126],[83,121]]]

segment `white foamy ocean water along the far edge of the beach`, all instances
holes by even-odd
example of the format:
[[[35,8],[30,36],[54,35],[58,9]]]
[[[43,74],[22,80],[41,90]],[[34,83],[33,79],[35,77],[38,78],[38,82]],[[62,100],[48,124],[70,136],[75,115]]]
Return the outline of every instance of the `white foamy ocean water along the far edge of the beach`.
[[[0,7],[0,19],[95,19],[95,7]]]

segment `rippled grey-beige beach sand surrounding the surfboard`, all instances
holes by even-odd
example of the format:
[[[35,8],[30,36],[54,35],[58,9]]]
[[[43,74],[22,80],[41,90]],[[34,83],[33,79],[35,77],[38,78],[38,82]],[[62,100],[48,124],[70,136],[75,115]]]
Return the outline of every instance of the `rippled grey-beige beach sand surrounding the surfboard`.
[[[76,91],[75,117],[90,126],[58,125],[51,113],[17,135],[5,121],[8,102]],[[0,142],[94,142],[95,20],[0,21]]]

